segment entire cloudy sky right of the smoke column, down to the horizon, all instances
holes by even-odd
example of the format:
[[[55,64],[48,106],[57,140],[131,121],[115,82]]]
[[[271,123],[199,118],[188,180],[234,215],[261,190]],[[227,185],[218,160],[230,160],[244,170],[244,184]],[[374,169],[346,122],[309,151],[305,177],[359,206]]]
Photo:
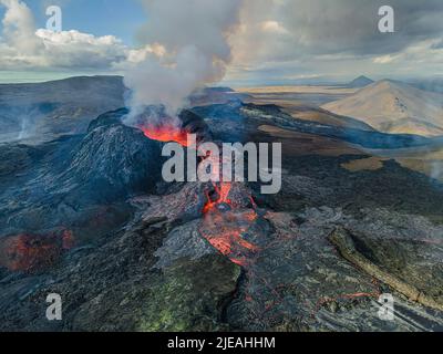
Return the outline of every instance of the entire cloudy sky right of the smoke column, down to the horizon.
[[[233,42],[229,79],[245,73],[267,80],[320,73],[433,74],[430,67],[413,65],[412,58],[420,53],[411,52],[420,46],[421,56],[441,58],[443,1],[388,3],[394,9],[394,33],[378,30],[383,0],[250,0],[241,12],[241,35]]]

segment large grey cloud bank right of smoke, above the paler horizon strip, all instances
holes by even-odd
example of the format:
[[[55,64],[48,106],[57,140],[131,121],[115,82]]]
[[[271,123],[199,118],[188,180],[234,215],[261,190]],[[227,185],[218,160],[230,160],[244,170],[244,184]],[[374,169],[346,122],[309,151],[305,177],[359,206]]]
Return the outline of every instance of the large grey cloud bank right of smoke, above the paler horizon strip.
[[[441,0],[391,0],[395,33],[378,30],[383,0],[258,0],[250,1],[241,23],[249,31],[240,39],[250,48],[265,41],[274,50],[269,59],[303,54],[390,54],[422,41],[443,35]],[[254,8],[254,11],[250,9]],[[257,28],[257,23],[267,25]],[[275,31],[269,31],[269,30]],[[274,32],[274,44],[262,32]],[[254,42],[250,41],[254,39]],[[261,39],[261,40],[260,40]],[[277,45],[276,45],[277,43]]]

